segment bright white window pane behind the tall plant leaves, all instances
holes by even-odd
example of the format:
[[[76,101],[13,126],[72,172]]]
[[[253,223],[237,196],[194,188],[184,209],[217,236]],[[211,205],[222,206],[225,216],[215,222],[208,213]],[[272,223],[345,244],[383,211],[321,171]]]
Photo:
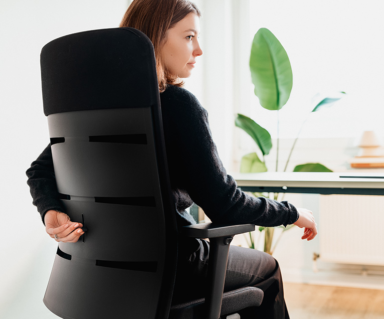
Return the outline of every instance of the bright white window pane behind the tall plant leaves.
[[[251,36],[271,30],[286,49],[293,89],[279,112],[280,137],[294,138],[314,99],[345,91],[331,108],[310,114],[303,138],[384,136],[384,2],[250,0]],[[250,42],[252,41],[250,38]],[[250,76],[244,76],[251,83]],[[244,83],[247,83],[247,82]],[[251,116],[276,137],[276,111],[258,104],[250,84]]]

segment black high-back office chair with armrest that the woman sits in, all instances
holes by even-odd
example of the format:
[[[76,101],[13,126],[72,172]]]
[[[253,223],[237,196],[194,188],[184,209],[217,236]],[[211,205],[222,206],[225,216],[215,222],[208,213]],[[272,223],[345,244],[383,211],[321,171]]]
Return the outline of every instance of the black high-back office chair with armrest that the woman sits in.
[[[171,304],[176,211],[148,37],[114,28],[58,38],[41,51],[41,79],[58,191],[87,229],[59,243],[47,308],[65,319],[235,319],[260,305],[254,287],[222,294],[229,243],[251,224],[183,229],[210,238],[211,288],[205,301]]]

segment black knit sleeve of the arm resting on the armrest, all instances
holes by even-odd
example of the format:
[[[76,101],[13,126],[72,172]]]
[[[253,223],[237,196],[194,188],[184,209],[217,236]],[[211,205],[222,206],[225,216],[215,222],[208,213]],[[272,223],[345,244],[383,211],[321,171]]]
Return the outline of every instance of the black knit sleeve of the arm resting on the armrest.
[[[207,112],[190,92],[177,90],[182,94],[173,92],[162,98],[169,99],[169,103],[162,103],[162,108],[164,104],[171,181],[177,181],[178,187],[187,191],[214,222],[255,223],[259,226],[294,223],[298,212],[292,204],[255,198],[237,187],[218,157]]]

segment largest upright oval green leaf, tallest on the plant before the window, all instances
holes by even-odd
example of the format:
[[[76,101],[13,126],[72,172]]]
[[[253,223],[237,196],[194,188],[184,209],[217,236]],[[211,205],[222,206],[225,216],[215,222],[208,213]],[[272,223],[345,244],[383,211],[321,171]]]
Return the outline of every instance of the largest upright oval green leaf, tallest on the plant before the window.
[[[266,28],[259,29],[253,38],[249,66],[261,106],[280,110],[291,94],[292,68],[284,47]]]

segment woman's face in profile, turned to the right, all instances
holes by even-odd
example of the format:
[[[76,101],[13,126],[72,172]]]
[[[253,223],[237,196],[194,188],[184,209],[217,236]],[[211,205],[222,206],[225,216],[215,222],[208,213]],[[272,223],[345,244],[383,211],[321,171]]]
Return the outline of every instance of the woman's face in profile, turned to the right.
[[[197,36],[200,33],[199,18],[190,13],[167,31],[160,54],[165,68],[172,75],[188,78],[196,57],[202,54]]]

